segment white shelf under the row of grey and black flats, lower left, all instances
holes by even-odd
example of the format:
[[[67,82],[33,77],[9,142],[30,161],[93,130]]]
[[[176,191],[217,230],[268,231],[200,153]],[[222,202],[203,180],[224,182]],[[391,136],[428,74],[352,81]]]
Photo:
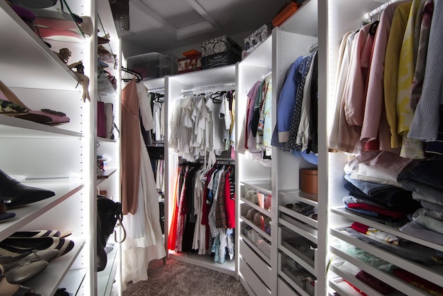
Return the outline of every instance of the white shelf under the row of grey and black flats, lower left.
[[[77,258],[78,254],[84,246],[84,238],[79,237],[67,237],[74,242],[74,247],[71,251],[53,259],[39,275],[26,281],[24,286],[32,287],[35,289],[35,293],[41,295],[54,295],[57,288],[60,287],[64,276],[69,272],[72,263]],[[80,276],[80,275],[79,275]],[[48,281],[47,279],[51,279]]]

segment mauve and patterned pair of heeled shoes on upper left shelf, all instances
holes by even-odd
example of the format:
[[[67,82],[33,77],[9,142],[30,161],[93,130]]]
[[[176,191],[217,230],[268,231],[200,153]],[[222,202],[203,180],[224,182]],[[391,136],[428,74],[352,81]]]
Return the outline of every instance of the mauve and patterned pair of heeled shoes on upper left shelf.
[[[70,119],[63,112],[57,112],[49,109],[42,109],[33,111],[30,108],[26,107],[26,105],[20,101],[20,99],[0,80],[0,99],[3,101],[3,104],[8,105],[6,102],[13,103],[15,105],[10,105],[10,107],[15,108],[17,114],[13,114],[12,112],[8,112],[7,115],[17,117],[19,119],[25,119],[28,121],[33,121],[36,123],[44,123],[48,125],[66,123],[69,122]],[[4,102],[6,101],[6,102]],[[21,106],[22,109],[19,109],[17,105]],[[9,110],[9,109],[8,109]],[[6,114],[0,112],[1,114]]]

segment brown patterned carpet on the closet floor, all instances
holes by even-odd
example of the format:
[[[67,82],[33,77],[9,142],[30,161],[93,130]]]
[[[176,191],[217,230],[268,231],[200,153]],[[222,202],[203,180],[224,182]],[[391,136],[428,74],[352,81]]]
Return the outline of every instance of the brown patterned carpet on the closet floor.
[[[234,277],[174,259],[151,261],[147,277],[127,284],[123,296],[248,296]]]

